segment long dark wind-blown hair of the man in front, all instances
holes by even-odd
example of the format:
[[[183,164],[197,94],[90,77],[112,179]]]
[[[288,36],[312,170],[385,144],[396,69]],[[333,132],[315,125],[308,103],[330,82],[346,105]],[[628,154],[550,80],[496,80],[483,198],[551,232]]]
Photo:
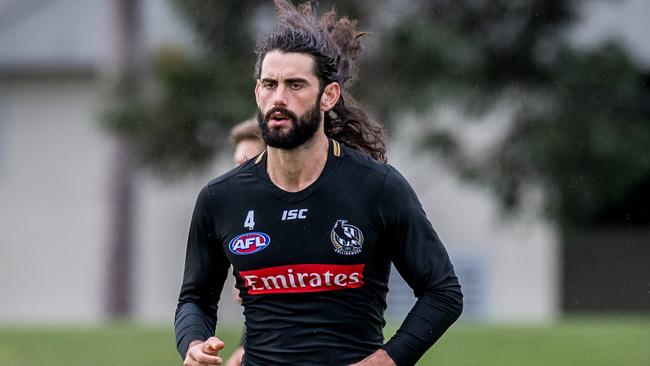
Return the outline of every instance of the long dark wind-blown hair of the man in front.
[[[267,34],[257,45],[255,77],[260,78],[262,61],[273,50],[307,53],[314,59],[314,74],[320,90],[337,82],[341,97],[325,113],[325,134],[354,149],[365,152],[373,159],[386,162],[386,132],[357,105],[344,87],[357,76],[356,59],[361,54],[361,36],[357,22],[347,17],[337,19],[330,10],[318,19],[311,3],[298,7],[288,0],[274,0],[277,9],[276,30]]]

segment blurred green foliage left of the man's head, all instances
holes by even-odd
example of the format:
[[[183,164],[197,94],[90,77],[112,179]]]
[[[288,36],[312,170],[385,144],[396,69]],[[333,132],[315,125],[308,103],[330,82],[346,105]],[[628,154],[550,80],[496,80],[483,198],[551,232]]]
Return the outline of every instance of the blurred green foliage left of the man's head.
[[[147,84],[109,111],[108,127],[128,136],[140,162],[174,179],[202,168],[227,142],[226,131],[249,118],[255,1],[174,1],[196,30],[201,52],[164,48],[150,58]]]

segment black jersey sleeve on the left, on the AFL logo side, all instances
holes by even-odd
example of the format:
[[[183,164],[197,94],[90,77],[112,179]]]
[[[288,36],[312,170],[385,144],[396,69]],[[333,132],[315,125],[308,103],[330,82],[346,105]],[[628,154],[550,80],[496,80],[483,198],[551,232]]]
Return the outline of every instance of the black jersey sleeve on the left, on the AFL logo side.
[[[187,240],[183,284],[176,308],[174,330],[176,347],[185,358],[192,341],[214,335],[217,304],[230,266],[216,240],[216,226],[209,188],[198,196]]]

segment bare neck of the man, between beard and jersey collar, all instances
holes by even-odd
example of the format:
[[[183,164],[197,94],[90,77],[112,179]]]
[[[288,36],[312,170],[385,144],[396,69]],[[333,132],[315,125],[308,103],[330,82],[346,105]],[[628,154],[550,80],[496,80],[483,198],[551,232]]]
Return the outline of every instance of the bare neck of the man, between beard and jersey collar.
[[[271,182],[287,192],[299,192],[314,183],[325,168],[329,141],[322,132],[295,149],[268,147],[266,171]]]

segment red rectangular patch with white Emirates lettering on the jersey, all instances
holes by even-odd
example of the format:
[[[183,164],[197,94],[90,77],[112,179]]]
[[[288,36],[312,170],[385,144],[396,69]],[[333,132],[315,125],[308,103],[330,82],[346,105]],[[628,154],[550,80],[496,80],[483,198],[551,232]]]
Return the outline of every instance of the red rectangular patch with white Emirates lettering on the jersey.
[[[294,264],[240,271],[251,295],[334,291],[363,286],[364,264]]]

